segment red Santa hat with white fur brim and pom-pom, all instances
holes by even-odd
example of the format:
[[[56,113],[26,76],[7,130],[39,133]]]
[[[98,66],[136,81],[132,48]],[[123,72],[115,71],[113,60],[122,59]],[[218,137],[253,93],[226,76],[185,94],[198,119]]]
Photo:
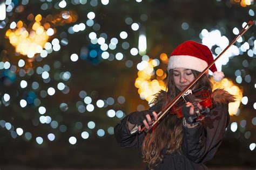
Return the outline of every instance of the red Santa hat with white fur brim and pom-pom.
[[[189,40],[173,50],[167,69],[169,71],[174,68],[187,68],[203,72],[213,60],[212,52],[207,46]],[[223,79],[224,73],[217,72],[215,64],[210,67],[210,70],[213,72],[213,80]]]

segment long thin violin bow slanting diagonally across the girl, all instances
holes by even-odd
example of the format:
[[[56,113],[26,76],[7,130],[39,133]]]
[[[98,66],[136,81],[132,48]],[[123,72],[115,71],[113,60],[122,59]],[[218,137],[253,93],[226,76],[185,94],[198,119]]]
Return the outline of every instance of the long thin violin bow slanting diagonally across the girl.
[[[215,58],[215,59],[212,61],[212,63],[210,63],[210,65],[208,65],[208,66],[203,70],[203,72],[199,73],[199,75],[198,75],[190,84],[188,84],[188,86],[187,86],[185,89],[183,89],[176,97],[174,97],[173,100],[172,100],[170,103],[168,103],[168,104],[157,114],[157,116],[158,116],[157,121],[154,121],[154,122],[151,124],[151,126],[150,126],[149,129],[146,129],[145,126],[144,126],[140,132],[143,132],[143,131],[149,132],[149,131],[152,129],[152,127],[153,127],[154,125],[156,125],[156,124],[159,122],[159,120],[160,120],[161,118],[163,118],[164,115],[173,107],[173,105],[178,102],[179,98],[180,98],[181,96],[183,96],[183,95],[186,93],[186,91],[187,91],[188,89],[192,88],[192,87],[194,86],[194,84],[196,84],[196,82],[200,79],[200,77],[203,76],[203,75],[205,74],[205,72],[206,72],[210,67],[212,67],[212,65],[215,63],[215,61],[217,61],[217,60],[220,58],[220,56],[223,55],[223,54],[227,51],[227,49],[230,48],[230,47],[234,44],[235,41],[237,41],[248,29],[250,29],[250,27],[251,27],[253,24],[254,24],[254,20],[250,20],[250,21],[244,26],[244,28],[239,32],[239,34],[238,34],[237,36],[235,36],[235,38],[230,42],[230,44],[217,56],[217,58]],[[138,132],[138,125],[136,125],[136,126],[131,130],[131,134],[136,133],[136,132]]]

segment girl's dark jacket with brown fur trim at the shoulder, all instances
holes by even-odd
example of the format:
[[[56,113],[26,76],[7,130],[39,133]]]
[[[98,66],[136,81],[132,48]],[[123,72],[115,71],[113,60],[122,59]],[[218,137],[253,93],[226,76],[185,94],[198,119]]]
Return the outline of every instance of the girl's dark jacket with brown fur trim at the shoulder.
[[[223,140],[229,122],[228,102],[234,98],[224,90],[212,94],[214,108],[202,124],[194,128],[183,126],[183,154],[165,154],[164,160],[156,169],[207,169],[204,162],[211,160]],[[122,147],[140,147],[145,133],[131,134],[127,128],[127,115],[114,127],[114,136]]]

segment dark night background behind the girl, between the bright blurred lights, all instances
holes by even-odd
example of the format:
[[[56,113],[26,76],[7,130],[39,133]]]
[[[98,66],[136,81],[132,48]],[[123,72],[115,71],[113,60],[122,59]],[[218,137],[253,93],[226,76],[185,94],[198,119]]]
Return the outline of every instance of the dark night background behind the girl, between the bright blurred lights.
[[[203,29],[208,32],[220,30],[221,36],[231,41],[235,37],[234,27],[241,30],[242,23],[255,20],[256,10],[254,1],[242,6],[242,3],[248,1],[240,0],[143,0],[142,2],[120,0],[110,1],[107,5],[103,5],[104,1],[97,0],[66,0],[64,8],[59,7],[60,1],[54,0],[0,2],[5,3],[6,10],[9,10],[6,12],[6,18],[0,20],[0,62],[2,61],[2,66],[6,61],[11,65],[5,69],[0,63],[1,169],[145,168],[139,150],[121,148],[114,140],[113,126],[121,117],[109,117],[106,114],[108,110],[113,109],[121,110],[127,115],[134,110],[148,107],[148,102],[140,98],[138,88],[134,86],[138,77],[137,65],[142,61],[142,56],[130,53],[131,48],[138,48],[140,31],[146,33],[146,55],[160,61],[154,69],[160,68],[165,71],[167,65],[160,60],[161,53],[169,56],[177,45],[186,40],[201,43],[199,34]],[[71,22],[66,22],[62,17],[63,11],[70,12],[73,18]],[[96,26],[86,24],[89,12],[95,13],[93,21]],[[46,58],[42,58],[40,53],[35,54],[33,58],[17,53],[6,36],[11,23],[17,23],[19,20],[22,20],[27,30],[31,29],[35,22],[33,19],[28,19],[31,14],[42,15],[42,23],[49,23],[55,30],[48,42],[51,43],[55,38],[60,41],[60,49],[48,53]],[[131,18],[132,23],[138,23],[139,30],[132,30],[127,18]],[[79,23],[86,25],[85,30],[71,33],[68,31],[70,27]],[[119,34],[122,31],[128,34],[126,39],[120,38]],[[91,43],[90,32],[95,32],[97,37],[105,33],[106,44],[110,44],[111,38],[118,39],[115,49],[106,50],[110,53],[109,59],[102,58],[103,50],[100,49],[99,44]],[[240,54],[231,56],[228,63],[222,67],[225,76],[243,90],[242,96],[246,96],[248,102],[240,104],[237,116],[231,116],[223,144],[215,157],[206,163],[212,169],[256,168],[254,32],[255,25],[244,34],[242,42],[235,42],[235,46],[240,49],[242,44],[248,41],[253,54],[248,54],[249,49],[245,52],[241,52],[240,49]],[[123,42],[128,42],[130,46],[125,49],[122,46]],[[216,45],[211,49],[213,54],[215,48]],[[96,56],[90,54],[93,50],[96,51]],[[79,56],[75,62],[70,59],[73,53]],[[123,59],[114,59],[116,53],[122,53]],[[25,66],[19,67],[18,62],[21,59],[25,61]],[[132,66],[127,64],[127,61],[133,63]],[[50,80],[49,78],[44,80],[37,73],[38,67],[50,68],[48,70]],[[68,80],[63,80],[64,72],[71,74]],[[248,75],[250,80],[246,79]],[[238,82],[238,76],[241,77],[241,82]],[[157,76],[154,75],[151,77],[152,80],[156,78]],[[22,80],[28,84],[25,88],[21,88]],[[39,87],[33,88],[33,82],[37,82]],[[64,92],[57,88],[59,82],[65,84]],[[47,94],[50,87],[55,88],[54,95]],[[65,92],[67,87],[68,93]],[[93,111],[83,110],[87,104],[84,103],[85,96],[79,96],[80,91],[86,91],[86,96],[91,97]],[[9,101],[4,101],[4,94],[9,94]],[[119,96],[123,96],[125,102],[120,101]],[[24,108],[20,105],[21,100],[26,100],[28,103]],[[98,100],[104,101],[103,108],[97,107]],[[68,106],[66,111],[60,107],[62,103]],[[80,109],[83,111],[79,111],[79,105],[82,105]],[[39,121],[42,115],[39,114],[38,108],[41,106],[46,108],[44,116],[50,116],[51,121],[56,121],[57,127],[52,128],[51,123]],[[95,128],[89,128],[87,124],[90,121],[96,124]],[[238,125],[235,132],[231,131],[233,122]],[[11,124],[10,129],[6,128],[6,123]],[[63,125],[62,128],[60,125]],[[23,129],[21,136],[17,135],[17,128]],[[97,133],[100,129],[104,131],[103,136]],[[84,131],[89,134],[89,138],[81,137]],[[49,133],[54,134],[53,141],[49,140]],[[42,144],[37,142],[37,137],[43,138]],[[77,139],[74,145],[70,144],[70,137]]]

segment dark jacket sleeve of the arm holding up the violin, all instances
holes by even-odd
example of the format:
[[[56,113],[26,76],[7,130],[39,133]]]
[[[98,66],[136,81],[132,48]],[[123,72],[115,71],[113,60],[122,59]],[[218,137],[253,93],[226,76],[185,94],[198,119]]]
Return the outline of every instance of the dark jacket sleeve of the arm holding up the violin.
[[[211,160],[224,138],[229,119],[228,104],[220,104],[202,124],[194,128],[183,126],[183,154],[196,163]]]

